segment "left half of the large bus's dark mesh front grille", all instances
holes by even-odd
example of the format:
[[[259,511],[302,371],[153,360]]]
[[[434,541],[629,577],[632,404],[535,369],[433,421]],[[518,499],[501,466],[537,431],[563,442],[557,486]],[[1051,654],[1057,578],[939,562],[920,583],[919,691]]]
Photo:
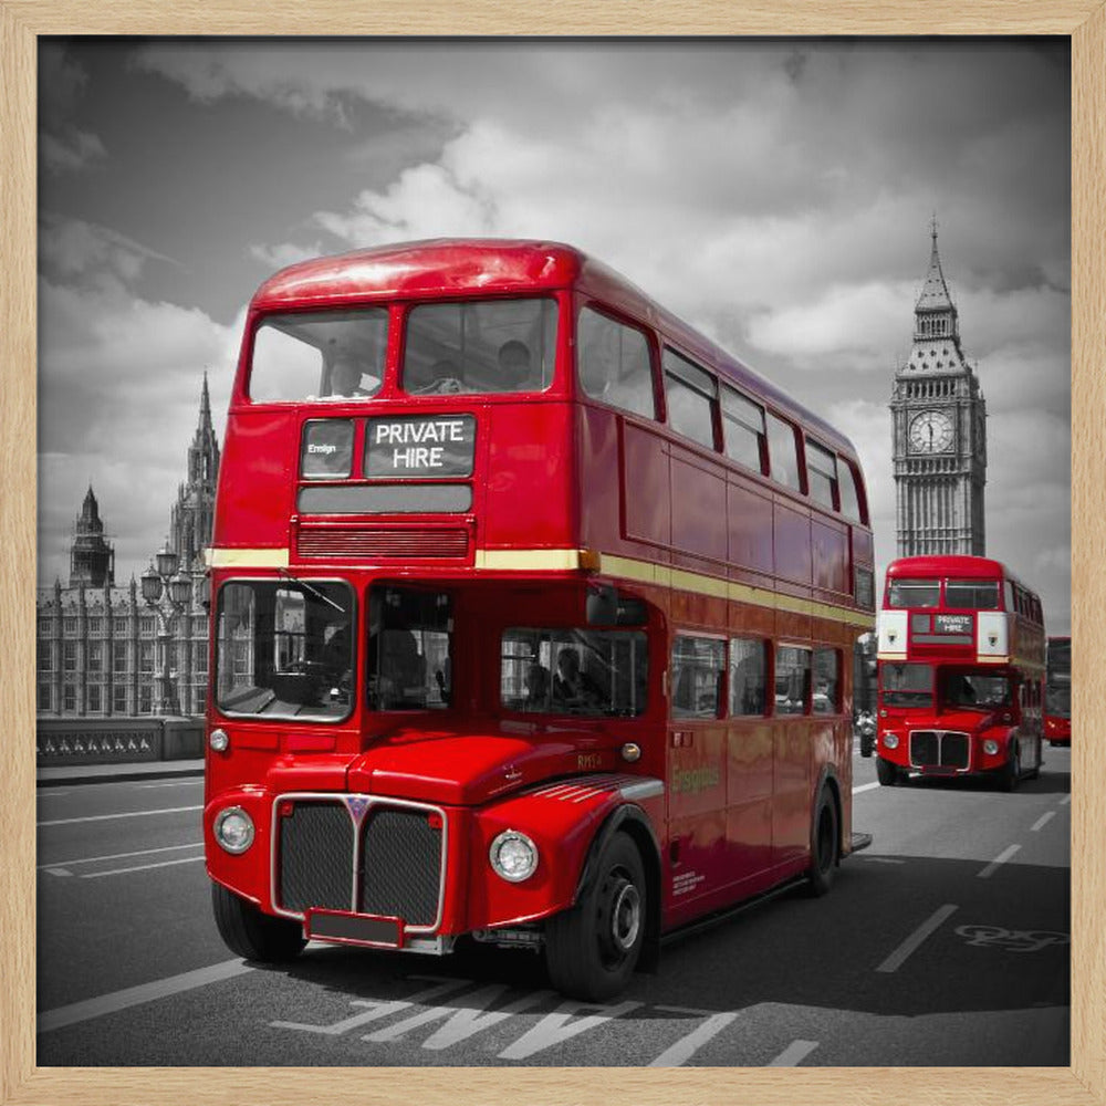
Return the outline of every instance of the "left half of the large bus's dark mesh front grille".
[[[299,802],[279,817],[278,901],[348,910],[353,901],[353,822],[341,803]]]

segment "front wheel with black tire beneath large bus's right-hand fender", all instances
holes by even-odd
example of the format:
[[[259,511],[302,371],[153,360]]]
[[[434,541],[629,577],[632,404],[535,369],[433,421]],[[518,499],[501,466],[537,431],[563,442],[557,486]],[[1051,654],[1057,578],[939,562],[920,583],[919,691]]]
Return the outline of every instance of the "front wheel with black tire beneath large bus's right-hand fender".
[[[546,922],[545,962],[553,985],[584,1002],[618,994],[641,954],[647,907],[641,854],[625,833],[616,833],[576,905]]]

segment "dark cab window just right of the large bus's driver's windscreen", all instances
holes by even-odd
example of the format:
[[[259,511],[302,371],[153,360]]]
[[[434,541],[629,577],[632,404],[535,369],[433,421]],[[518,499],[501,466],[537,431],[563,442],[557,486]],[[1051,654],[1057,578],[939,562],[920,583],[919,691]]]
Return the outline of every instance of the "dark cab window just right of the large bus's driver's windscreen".
[[[452,603],[442,592],[374,587],[368,604],[368,706],[426,710],[449,706]]]

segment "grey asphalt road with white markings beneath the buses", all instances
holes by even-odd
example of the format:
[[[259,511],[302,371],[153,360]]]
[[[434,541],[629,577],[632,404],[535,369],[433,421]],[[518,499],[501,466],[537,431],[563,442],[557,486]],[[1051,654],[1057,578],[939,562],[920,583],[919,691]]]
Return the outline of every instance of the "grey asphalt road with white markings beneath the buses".
[[[1005,794],[879,787],[855,757],[875,843],[831,894],[670,942],[605,1006],[526,952],[244,964],[210,917],[200,780],[42,789],[38,1062],[1066,1066],[1070,765],[1047,749]]]

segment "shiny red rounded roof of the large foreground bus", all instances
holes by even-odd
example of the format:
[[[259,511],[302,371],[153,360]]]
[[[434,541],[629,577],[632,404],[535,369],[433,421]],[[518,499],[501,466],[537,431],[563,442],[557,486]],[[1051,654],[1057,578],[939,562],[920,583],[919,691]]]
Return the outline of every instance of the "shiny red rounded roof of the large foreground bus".
[[[563,242],[437,238],[314,258],[269,278],[254,294],[251,307],[272,312],[366,299],[510,295],[566,288],[594,295],[664,331],[730,383],[856,459],[848,438],[828,422],[661,307],[620,273]]]

